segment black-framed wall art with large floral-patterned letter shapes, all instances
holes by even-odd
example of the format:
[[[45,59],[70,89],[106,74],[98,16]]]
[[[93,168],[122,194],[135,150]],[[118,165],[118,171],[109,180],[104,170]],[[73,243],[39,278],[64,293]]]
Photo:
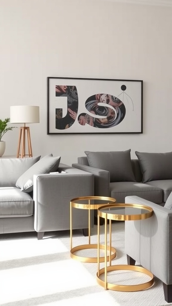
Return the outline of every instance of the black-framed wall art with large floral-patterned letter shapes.
[[[47,77],[47,134],[142,133],[143,81]]]

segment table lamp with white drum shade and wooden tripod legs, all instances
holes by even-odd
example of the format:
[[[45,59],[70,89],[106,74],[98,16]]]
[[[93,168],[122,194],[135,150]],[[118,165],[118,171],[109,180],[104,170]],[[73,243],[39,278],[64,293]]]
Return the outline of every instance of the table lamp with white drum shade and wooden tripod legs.
[[[17,158],[21,158],[26,155],[32,157],[32,146],[30,138],[30,129],[26,126],[26,123],[39,123],[39,106],[30,105],[20,105],[20,106],[10,106],[10,123],[23,123],[24,126],[20,128],[19,142],[17,149]],[[26,141],[26,131],[28,138],[28,154],[25,154],[25,141]],[[20,154],[21,147],[21,154]]]

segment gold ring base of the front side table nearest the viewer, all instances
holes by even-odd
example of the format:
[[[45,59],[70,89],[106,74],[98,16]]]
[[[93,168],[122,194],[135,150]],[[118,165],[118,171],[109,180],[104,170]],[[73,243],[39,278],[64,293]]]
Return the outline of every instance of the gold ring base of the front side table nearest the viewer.
[[[138,284],[138,285],[115,285],[115,284],[111,284],[108,282],[105,283],[103,280],[99,278],[101,274],[105,273],[105,268],[103,268],[99,270],[99,276],[97,273],[97,282],[99,283],[99,285],[101,285],[105,289],[132,292],[132,291],[140,291],[140,290],[148,289],[154,284],[153,274],[143,267],[132,266],[132,265],[114,265],[114,266],[107,267],[107,272],[116,271],[116,270],[130,270],[130,271],[142,272],[150,276],[151,280],[148,282],[142,283],[142,284]]]

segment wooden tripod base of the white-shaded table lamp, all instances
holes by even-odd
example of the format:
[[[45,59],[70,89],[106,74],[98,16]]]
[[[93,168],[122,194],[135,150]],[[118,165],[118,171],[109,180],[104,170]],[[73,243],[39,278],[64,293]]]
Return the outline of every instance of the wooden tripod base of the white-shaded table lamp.
[[[28,154],[26,154],[26,134],[28,138]],[[20,154],[20,147],[21,147],[21,154]],[[26,156],[32,157],[30,129],[28,126],[21,126],[20,128],[17,158],[19,158],[19,156],[21,156],[21,158],[26,157]]]

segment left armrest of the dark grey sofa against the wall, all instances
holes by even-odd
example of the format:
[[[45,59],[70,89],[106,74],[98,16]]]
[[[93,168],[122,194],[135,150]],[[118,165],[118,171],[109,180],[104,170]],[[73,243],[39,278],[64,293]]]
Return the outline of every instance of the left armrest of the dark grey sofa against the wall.
[[[110,196],[110,172],[86,165],[72,164],[73,167],[94,174],[94,195]]]

